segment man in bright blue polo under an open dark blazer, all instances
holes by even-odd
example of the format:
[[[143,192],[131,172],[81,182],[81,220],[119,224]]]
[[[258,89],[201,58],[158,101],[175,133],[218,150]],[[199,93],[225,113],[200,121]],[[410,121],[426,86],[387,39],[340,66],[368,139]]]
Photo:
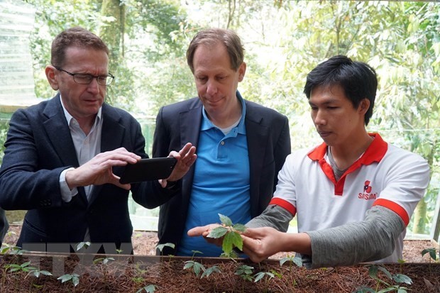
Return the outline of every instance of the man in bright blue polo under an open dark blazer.
[[[187,50],[198,97],[164,106],[156,119],[153,157],[185,142],[197,146],[197,162],[177,182],[180,192],[149,197],[160,206],[160,243],[174,243],[163,253],[219,256],[221,249],[187,231],[219,214],[247,223],[268,206],[277,173],[290,153],[287,117],[251,101],[237,91],[243,80],[241,40],[231,30],[207,29],[194,36]]]

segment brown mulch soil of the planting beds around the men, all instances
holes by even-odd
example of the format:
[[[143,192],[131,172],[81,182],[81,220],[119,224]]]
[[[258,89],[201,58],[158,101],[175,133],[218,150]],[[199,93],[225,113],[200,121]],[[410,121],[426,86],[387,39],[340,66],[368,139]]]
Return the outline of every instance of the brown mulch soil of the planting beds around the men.
[[[9,245],[15,244],[20,227],[11,226],[5,239]],[[399,284],[378,272],[382,284],[368,275],[368,267],[336,267],[319,270],[307,270],[285,262],[280,258],[287,255],[277,254],[270,260],[258,264],[246,260],[225,260],[218,258],[194,258],[205,268],[217,266],[221,272],[212,272],[201,278],[193,268],[185,269],[185,261],[191,258],[160,258],[155,255],[157,235],[154,232],[135,231],[133,233],[135,255],[108,255],[115,258],[103,263],[93,261],[91,255],[70,255],[47,257],[42,255],[4,255],[0,258],[0,292],[356,292],[361,287],[372,288],[377,292]],[[432,248],[431,241],[405,241],[404,264],[384,265],[393,275],[403,274],[411,278],[412,284],[402,284],[412,292],[440,293],[440,262],[434,262],[428,255],[422,257],[422,250]],[[35,277],[28,272],[11,272],[5,266],[23,265],[31,260],[31,265],[40,270],[53,272],[54,276]],[[244,280],[236,275],[241,265],[253,267],[251,277],[261,272],[265,274],[260,281]],[[213,269],[211,269],[213,270]],[[72,280],[62,283],[57,280],[63,274],[77,274],[79,283]],[[273,274],[269,275],[267,273]],[[65,275],[64,275],[65,276]],[[272,277],[273,276],[273,277]],[[155,290],[148,285],[154,286]]]

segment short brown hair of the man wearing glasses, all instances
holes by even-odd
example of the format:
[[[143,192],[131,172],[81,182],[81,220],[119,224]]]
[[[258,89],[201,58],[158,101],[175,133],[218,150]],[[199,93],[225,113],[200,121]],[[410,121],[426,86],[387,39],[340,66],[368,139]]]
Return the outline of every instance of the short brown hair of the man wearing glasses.
[[[68,28],[67,30],[62,31],[53,40],[50,57],[50,62],[52,65],[62,67],[65,62],[65,52],[67,48],[70,47],[103,50],[107,55],[109,55],[109,48],[101,40],[101,38],[84,28],[76,26],[74,28]]]

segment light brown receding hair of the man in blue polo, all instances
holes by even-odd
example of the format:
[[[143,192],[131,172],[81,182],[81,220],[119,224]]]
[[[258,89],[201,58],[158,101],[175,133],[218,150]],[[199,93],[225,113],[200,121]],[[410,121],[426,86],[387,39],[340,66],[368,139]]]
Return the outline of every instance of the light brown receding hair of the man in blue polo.
[[[216,45],[217,43],[221,43],[226,47],[231,60],[231,69],[238,70],[244,60],[244,48],[240,37],[235,31],[229,29],[207,28],[194,35],[191,43],[189,43],[187,63],[192,73],[194,73],[194,52],[199,45]]]

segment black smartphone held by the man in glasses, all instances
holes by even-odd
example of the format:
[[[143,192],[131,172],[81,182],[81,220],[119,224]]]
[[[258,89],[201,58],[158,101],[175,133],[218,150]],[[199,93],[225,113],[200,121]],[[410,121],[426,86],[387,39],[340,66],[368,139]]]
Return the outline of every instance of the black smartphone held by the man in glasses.
[[[166,179],[171,175],[177,160],[174,157],[152,157],[126,165],[119,182],[122,184]]]

